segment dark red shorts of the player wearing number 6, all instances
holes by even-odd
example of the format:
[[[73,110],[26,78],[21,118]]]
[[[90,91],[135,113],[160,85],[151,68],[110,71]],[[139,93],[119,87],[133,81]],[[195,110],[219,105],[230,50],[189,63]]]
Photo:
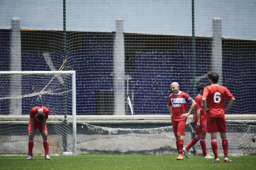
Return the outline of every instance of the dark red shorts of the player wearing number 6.
[[[207,117],[207,133],[227,132],[226,119],[224,117]]]

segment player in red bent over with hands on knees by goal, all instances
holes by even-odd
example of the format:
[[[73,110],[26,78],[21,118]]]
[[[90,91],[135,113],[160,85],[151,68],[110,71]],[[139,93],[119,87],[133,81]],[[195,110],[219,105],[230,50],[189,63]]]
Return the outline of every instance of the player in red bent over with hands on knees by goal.
[[[43,145],[45,150],[45,159],[51,159],[49,157],[49,143],[48,143],[48,131],[46,126],[46,120],[48,119],[49,109],[44,106],[33,107],[30,111],[30,118],[28,124],[28,158],[27,160],[32,160],[33,157],[33,147],[34,147],[34,137],[36,134],[36,128],[39,129],[41,136],[43,138]]]

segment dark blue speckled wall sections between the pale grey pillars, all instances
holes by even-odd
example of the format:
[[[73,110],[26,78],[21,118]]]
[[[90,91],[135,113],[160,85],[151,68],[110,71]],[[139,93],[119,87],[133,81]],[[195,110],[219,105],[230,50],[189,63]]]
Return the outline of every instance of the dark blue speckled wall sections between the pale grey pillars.
[[[83,32],[81,48],[67,51],[67,70],[76,71],[77,114],[95,114],[96,92],[113,89],[113,34]],[[189,37],[178,37],[177,49],[174,50],[137,50],[135,52],[135,69],[129,73],[134,83],[129,83],[133,90],[133,110],[135,114],[169,114],[167,101],[172,93],[170,85],[177,81],[180,90],[195,97],[193,89],[199,83],[208,83],[207,77],[193,84],[193,75],[202,76],[210,69],[211,38],[196,38],[195,56],[192,51],[192,40]],[[0,30],[0,68],[9,70],[10,31]],[[75,42],[74,42],[75,43]],[[49,71],[43,54],[48,52],[53,65],[59,69],[63,64],[63,53],[58,51],[22,50],[22,71]],[[236,103],[228,114],[253,114],[256,111],[256,51],[223,52],[223,85],[228,87],[236,97]],[[194,62],[194,63],[193,63]],[[127,75],[127,73],[125,73]],[[0,83],[7,83],[5,78]],[[54,82],[55,86],[61,86]],[[195,85],[195,87],[193,87]],[[127,86],[127,82],[125,82]],[[31,87],[33,85],[31,84]],[[29,90],[29,88],[27,89]],[[126,90],[126,89],[125,89]],[[1,94],[0,97],[5,94]],[[51,99],[59,102],[58,98]],[[43,105],[48,106],[50,96],[45,95]],[[35,97],[22,99],[23,114],[39,104]],[[228,101],[226,101],[228,102]],[[0,114],[8,112],[8,101],[1,101]],[[63,104],[59,103],[62,107]],[[48,106],[49,109],[53,106]],[[68,108],[71,103],[68,103]],[[189,107],[188,107],[189,108]],[[130,114],[129,109],[126,109]]]

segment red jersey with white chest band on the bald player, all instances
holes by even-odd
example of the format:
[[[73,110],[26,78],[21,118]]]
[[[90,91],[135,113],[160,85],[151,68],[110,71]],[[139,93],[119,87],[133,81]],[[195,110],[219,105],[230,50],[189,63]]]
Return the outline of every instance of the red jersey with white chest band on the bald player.
[[[181,117],[181,114],[187,113],[187,103],[192,100],[188,94],[181,91],[178,94],[170,94],[167,104],[172,106],[172,120],[187,120],[187,118]]]

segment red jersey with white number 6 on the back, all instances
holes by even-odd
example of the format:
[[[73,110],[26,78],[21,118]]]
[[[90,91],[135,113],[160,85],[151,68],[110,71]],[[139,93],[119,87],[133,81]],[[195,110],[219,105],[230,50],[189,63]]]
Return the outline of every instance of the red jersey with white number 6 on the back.
[[[207,107],[212,107],[207,112],[207,117],[225,117],[225,111],[223,110],[225,107],[225,98],[234,98],[226,87],[220,86],[219,84],[206,86],[203,97],[207,98]]]

